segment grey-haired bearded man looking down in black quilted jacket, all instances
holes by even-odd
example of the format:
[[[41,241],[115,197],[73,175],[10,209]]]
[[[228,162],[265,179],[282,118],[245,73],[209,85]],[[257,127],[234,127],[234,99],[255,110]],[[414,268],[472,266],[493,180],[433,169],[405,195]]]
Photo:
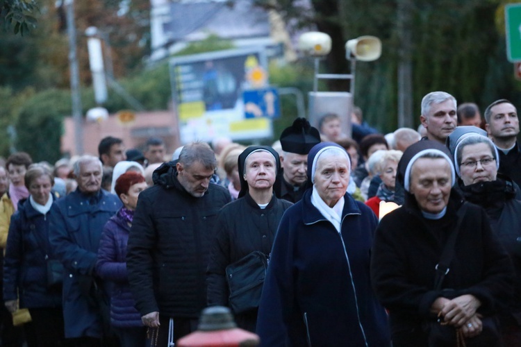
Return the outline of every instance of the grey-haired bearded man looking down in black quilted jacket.
[[[167,346],[197,329],[206,307],[206,268],[217,212],[231,201],[210,183],[217,160],[210,146],[183,146],[142,192],[132,221],[126,266],[135,307],[155,346]],[[171,323],[172,322],[172,323]]]

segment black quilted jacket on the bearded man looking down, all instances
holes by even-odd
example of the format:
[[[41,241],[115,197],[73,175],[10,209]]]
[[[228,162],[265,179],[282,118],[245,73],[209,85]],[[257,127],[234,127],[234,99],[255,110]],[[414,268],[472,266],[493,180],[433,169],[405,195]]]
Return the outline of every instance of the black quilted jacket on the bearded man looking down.
[[[160,312],[197,318],[206,307],[206,269],[217,212],[231,201],[210,183],[200,198],[177,180],[176,162],[154,171],[154,187],[140,194],[129,237],[129,282],[142,316]]]

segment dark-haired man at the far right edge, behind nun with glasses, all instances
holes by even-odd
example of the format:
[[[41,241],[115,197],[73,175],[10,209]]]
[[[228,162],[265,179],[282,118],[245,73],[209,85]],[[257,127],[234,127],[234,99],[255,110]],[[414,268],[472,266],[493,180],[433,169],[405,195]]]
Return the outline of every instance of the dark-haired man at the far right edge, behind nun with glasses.
[[[506,99],[491,103],[485,110],[486,130],[499,151],[499,173],[521,185],[521,151],[518,110]]]

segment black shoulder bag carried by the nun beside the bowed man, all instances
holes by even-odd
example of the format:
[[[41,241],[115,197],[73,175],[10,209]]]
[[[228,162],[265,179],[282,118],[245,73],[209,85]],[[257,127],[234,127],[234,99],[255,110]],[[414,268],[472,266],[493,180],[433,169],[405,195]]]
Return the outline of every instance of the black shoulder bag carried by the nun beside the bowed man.
[[[261,303],[267,264],[267,255],[261,251],[254,251],[226,266],[229,304],[233,312],[253,310]]]

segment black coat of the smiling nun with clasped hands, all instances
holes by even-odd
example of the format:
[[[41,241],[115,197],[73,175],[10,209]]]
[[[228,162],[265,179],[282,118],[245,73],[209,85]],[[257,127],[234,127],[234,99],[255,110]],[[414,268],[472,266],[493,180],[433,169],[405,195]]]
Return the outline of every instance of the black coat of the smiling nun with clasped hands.
[[[389,310],[393,339],[415,331],[436,298],[472,294],[481,301],[478,312],[496,314],[511,296],[510,259],[490,228],[486,212],[469,203],[456,239],[450,271],[442,291],[433,290],[436,264],[445,240],[454,230],[462,199],[453,189],[447,213],[439,221],[425,219],[411,194],[406,203],[381,220],[372,249],[371,275],[379,301]],[[432,226],[438,226],[435,234]],[[427,346],[420,344],[422,346]],[[418,345],[418,346],[420,346]]]

